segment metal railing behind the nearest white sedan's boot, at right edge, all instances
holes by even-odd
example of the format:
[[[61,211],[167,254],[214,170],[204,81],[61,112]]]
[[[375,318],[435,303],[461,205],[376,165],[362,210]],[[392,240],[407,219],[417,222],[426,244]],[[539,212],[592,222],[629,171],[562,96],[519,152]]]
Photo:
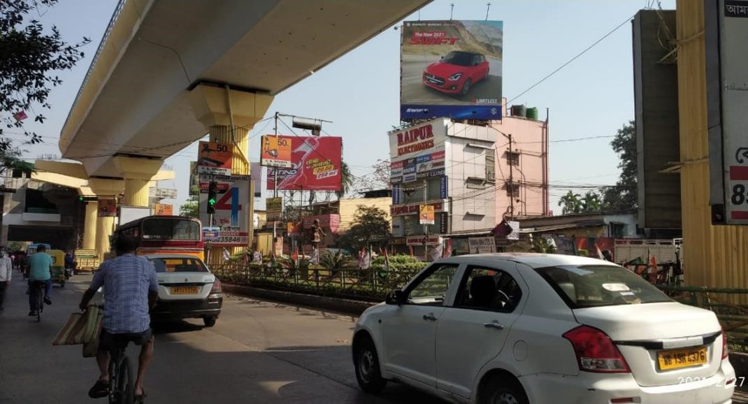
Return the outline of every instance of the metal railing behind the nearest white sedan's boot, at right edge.
[[[730,349],[748,353],[748,289],[657,285],[678,302],[714,311]]]

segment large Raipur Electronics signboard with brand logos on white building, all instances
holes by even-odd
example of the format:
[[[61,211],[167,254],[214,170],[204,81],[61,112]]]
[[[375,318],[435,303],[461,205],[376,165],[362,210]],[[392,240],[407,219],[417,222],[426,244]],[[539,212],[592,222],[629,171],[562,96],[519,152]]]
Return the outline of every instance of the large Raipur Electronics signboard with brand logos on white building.
[[[393,184],[444,175],[447,123],[443,119],[396,130],[389,135],[390,181]]]

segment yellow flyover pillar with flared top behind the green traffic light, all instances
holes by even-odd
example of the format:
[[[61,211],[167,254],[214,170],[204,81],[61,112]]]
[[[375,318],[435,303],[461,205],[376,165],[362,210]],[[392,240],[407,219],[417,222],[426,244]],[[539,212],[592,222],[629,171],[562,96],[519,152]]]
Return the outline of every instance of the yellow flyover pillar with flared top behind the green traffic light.
[[[210,141],[233,144],[231,173],[250,174],[248,133],[261,120],[270,107],[273,97],[248,91],[237,91],[228,86],[198,85],[190,93],[192,111],[203,123]],[[245,210],[248,215],[248,245],[230,248],[232,254],[245,251],[252,246],[254,236],[254,189],[250,181],[250,197]],[[205,209],[200,206],[200,209]],[[203,224],[206,225],[206,224]],[[210,249],[209,263],[223,262],[223,247]]]

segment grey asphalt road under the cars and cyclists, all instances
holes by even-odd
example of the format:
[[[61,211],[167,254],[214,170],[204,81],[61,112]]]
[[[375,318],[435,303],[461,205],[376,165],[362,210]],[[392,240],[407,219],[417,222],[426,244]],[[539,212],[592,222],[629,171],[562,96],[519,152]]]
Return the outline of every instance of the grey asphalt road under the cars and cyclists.
[[[15,274],[14,274],[15,275]],[[96,403],[88,398],[98,370],[81,346],[52,346],[76,310],[90,275],[55,286],[42,322],[28,314],[16,278],[0,314],[0,403]],[[189,320],[156,327],[148,403],[433,403],[442,400],[390,384],[380,397],[362,393],[353,372],[354,319],[318,310],[227,296],[213,328]],[[135,347],[129,350],[137,356]],[[99,400],[99,403],[105,403]],[[736,393],[735,403],[748,403]]]

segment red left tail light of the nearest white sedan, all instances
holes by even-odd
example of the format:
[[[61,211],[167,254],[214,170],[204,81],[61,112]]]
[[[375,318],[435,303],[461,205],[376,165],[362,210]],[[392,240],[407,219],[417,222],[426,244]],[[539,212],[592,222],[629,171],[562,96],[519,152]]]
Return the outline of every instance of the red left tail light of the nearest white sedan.
[[[597,328],[581,325],[563,334],[574,346],[579,370],[595,373],[631,373],[613,340]]]

